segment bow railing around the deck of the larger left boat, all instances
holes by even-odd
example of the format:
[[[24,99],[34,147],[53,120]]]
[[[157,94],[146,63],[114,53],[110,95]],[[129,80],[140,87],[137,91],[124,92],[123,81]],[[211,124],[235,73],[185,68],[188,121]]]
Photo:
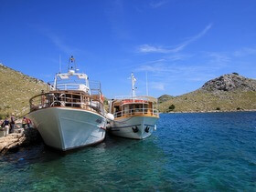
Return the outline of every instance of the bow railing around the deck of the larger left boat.
[[[65,106],[82,108],[100,114],[104,113],[103,104],[99,96],[90,96],[82,93],[66,93],[53,91],[34,96],[30,99],[30,111],[41,108]]]

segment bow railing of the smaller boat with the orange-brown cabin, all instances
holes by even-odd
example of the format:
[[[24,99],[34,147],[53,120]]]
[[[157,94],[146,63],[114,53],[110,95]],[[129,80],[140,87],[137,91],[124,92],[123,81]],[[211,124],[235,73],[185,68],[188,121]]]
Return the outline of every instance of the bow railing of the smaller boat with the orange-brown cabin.
[[[114,113],[114,117],[121,116],[133,116],[133,115],[146,115],[146,116],[158,116],[158,110],[152,108],[133,108],[133,109],[124,109],[123,111],[118,111]]]

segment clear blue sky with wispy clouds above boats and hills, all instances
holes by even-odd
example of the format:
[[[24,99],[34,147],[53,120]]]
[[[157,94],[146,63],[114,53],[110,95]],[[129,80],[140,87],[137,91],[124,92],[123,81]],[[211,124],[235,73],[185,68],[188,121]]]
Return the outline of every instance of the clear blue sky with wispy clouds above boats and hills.
[[[0,63],[51,82],[74,56],[109,98],[132,93],[132,72],[136,95],[147,85],[179,96],[224,74],[256,78],[255,10],[255,0],[0,0]]]

